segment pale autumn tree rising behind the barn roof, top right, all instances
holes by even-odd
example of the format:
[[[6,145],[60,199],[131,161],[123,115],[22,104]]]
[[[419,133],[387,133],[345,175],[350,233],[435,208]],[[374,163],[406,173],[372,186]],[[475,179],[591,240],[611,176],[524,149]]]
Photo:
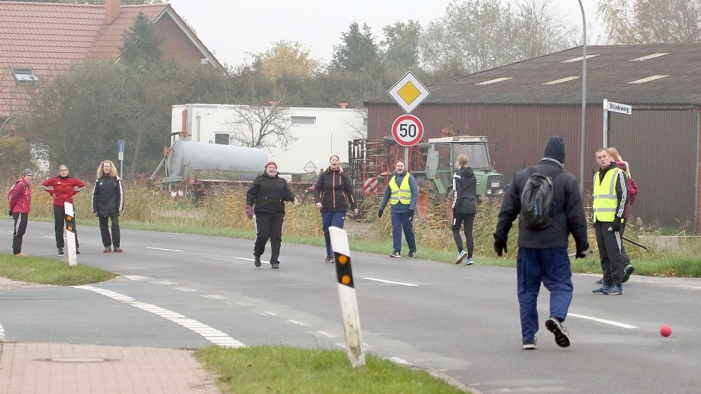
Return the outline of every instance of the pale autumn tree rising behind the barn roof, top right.
[[[701,42],[701,0],[599,0],[611,44]]]

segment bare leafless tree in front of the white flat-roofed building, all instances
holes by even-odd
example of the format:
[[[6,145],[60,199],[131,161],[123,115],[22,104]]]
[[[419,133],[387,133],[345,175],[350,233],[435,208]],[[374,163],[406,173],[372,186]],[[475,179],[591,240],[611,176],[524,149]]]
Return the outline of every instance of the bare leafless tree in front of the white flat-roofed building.
[[[287,150],[290,143],[297,141],[290,127],[290,110],[284,106],[234,106],[236,119],[229,122],[233,133],[229,143],[251,148],[272,148],[280,146]]]

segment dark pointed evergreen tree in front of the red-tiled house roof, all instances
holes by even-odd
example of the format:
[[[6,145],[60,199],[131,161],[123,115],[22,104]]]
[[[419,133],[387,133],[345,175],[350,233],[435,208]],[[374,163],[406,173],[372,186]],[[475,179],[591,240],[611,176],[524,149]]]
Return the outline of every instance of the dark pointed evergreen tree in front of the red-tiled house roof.
[[[119,48],[120,59],[128,64],[143,61],[146,64],[154,64],[160,61],[160,49],[162,37],[155,35],[153,23],[143,12],[134,16],[134,23],[128,31],[122,34],[123,44]]]

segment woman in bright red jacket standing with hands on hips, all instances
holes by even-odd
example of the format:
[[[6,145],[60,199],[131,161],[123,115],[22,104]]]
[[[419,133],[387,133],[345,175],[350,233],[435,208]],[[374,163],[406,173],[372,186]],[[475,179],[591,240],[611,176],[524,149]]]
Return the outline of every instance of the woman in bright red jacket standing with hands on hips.
[[[73,196],[85,187],[85,182],[80,179],[71,178],[68,176],[68,167],[61,164],[58,166],[58,176],[48,178],[41,182],[41,188],[48,191],[53,196],[53,231],[56,234],[56,248],[58,248],[58,256],[63,256],[63,226],[66,221],[66,211],[63,208],[63,203],[73,203]],[[75,216],[75,211],[73,211]],[[76,253],[78,250],[78,231],[76,233]]]

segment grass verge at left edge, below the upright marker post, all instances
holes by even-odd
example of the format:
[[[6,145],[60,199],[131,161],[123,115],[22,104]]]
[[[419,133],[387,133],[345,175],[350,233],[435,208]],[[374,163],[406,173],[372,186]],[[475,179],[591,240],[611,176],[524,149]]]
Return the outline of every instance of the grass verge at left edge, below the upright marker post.
[[[15,281],[76,286],[109,281],[116,275],[90,266],[69,266],[63,261],[41,257],[0,254],[0,276]]]

